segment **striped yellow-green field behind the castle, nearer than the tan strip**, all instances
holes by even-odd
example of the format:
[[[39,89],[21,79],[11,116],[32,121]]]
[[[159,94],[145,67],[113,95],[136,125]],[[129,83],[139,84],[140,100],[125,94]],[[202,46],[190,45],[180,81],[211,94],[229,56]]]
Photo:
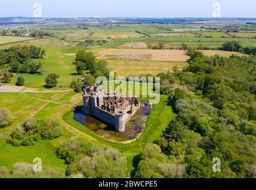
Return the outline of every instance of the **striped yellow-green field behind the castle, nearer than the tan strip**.
[[[157,75],[161,72],[172,72],[174,66],[180,70],[187,66],[186,62],[171,61],[130,61],[130,60],[107,60],[110,68],[119,76],[128,77],[129,75],[140,76],[142,74]]]

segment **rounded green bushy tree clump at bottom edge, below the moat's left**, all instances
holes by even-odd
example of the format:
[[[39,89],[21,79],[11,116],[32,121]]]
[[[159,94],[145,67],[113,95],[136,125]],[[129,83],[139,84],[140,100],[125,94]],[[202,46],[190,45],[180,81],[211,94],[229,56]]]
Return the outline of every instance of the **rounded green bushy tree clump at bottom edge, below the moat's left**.
[[[125,178],[128,174],[125,157],[111,147],[90,145],[73,137],[61,144],[57,154],[69,164],[68,176],[81,173],[85,178]]]

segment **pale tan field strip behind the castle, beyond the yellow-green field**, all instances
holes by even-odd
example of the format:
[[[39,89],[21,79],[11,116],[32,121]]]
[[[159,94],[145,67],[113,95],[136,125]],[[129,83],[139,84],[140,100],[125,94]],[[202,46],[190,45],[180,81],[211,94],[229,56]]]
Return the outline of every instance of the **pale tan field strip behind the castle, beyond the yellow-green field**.
[[[98,59],[144,60],[144,61],[187,61],[184,50],[172,49],[104,49]]]

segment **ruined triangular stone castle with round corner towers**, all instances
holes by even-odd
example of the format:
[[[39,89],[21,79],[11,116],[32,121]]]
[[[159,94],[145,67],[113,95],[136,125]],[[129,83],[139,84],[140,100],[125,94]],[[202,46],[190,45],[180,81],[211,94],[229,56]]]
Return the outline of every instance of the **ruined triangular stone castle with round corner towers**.
[[[84,113],[115,127],[117,132],[125,131],[125,124],[142,105],[138,97],[119,96],[119,90],[109,93],[100,85],[92,85],[84,89]]]

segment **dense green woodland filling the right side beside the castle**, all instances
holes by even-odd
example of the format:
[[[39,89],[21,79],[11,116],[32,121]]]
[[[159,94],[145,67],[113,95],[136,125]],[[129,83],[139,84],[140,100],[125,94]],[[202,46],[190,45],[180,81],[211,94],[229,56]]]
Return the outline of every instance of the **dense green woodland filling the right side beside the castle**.
[[[255,178],[256,57],[206,57],[195,50],[189,55],[183,71],[159,74],[161,93],[169,96],[177,118],[155,141],[161,149],[154,150],[168,163],[181,164],[183,178]],[[212,170],[214,158],[221,172]],[[163,160],[143,160],[140,177],[166,177],[159,170]]]

